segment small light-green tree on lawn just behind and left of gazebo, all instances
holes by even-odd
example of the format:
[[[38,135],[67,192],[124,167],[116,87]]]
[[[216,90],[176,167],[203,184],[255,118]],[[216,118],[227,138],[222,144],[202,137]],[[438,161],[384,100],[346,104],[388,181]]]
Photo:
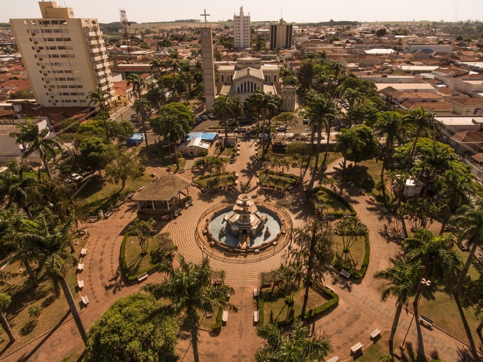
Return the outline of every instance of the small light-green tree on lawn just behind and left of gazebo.
[[[144,175],[146,167],[139,157],[135,157],[134,151],[127,151],[126,148],[120,149],[106,166],[106,177],[109,182],[119,184],[121,182],[124,189],[126,180],[136,180]]]

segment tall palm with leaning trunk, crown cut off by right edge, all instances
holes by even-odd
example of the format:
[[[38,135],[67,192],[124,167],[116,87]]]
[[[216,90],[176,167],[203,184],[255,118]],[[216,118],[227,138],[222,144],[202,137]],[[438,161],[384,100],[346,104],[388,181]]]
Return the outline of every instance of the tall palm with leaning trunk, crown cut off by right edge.
[[[483,228],[481,228],[481,225],[483,225],[483,199],[477,198],[473,205],[464,205],[459,208],[457,214],[451,217],[449,222],[454,223],[459,228],[459,241],[466,241],[466,246],[470,248],[460,278],[453,289],[454,294],[459,294],[476,248],[483,245]]]

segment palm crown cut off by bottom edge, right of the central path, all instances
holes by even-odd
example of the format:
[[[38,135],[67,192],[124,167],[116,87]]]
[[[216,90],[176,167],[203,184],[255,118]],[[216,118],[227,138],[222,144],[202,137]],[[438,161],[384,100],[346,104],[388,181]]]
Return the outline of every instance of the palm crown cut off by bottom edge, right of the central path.
[[[254,362],[323,362],[332,351],[325,336],[310,336],[309,328],[296,321],[291,331],[283,333],[274,324],[262,324],[256,334],[267,341],[255,352]]]

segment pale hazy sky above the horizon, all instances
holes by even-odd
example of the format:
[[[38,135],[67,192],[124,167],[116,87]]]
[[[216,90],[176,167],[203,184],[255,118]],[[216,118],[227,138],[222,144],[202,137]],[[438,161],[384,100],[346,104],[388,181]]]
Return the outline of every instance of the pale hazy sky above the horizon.
[[[36,0],[1,0],[0,22],[10,18],[39,18]],[[278,20],[282,14],[287,22],[319,22],[333,20],[357,21],[459,21],[481,20],[482,0],[60,0],[59,6],[74,9],[76,18],[98,18],[102,23],[119,21],[119,8],[124,8],[129,21],[154,22],[178,19],[201,19],[206,8],[208,20],[233,19],[243,6],[252,21]]]

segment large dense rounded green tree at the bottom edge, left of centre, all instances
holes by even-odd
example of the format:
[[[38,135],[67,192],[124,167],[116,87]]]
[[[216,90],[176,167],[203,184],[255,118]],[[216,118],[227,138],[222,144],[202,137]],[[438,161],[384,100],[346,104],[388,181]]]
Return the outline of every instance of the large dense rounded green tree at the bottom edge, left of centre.
[[[174,362],[177,332],[176,319],[152,295],[121,297],[89,329],[85,361]]]

